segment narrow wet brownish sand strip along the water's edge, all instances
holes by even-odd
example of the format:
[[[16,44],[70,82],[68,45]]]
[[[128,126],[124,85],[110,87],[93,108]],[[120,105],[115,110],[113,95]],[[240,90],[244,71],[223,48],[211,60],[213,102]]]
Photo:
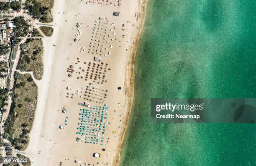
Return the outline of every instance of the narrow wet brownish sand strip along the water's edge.
[[[129,116],[131,114],[131,109],[133,107],[133,97],[134,97],[134,59],[137,53],[137,49],[138,49],[138,43],[139,43],[139,39],[141,38],[141,34],[142,34],[142,30],[144,27],[144,23],[145,23],[145,17],[146,17],[146,9],[147,9],[147,0],[140,0],[139,1],[139,9],[138,11],[140,11],[141,13],[140,16],[137,17],[137,20],[140,19],[139,22],[139,30],[137,32],[136,35],[136,39],[135,42],[133,44],[132,50],[131,50],[131,54],[130,54],[130,58],[128,59],[128,64],[126,67],[126,76],[125,76],[125,101],[128,100],[128,106],[127,106],[127,111],[126,111],[126,115],[125,115],[125,120],[124,120],[124,124],[121,127],[121,131],[119,134],[120,140],[118,141],[118,148],[116,149],[115,155],[114,155],[114,159],[113,159],[113,166],[119,166],[120,164],[120,159],[121,159],[121,153],[122,153],[122,149],[123,149],[123,141],[125,138],[125,135],[127,134],[127,127],[128,127],[128,120],[129,120]],[[127,90],[127,91],[126,91]],[[126,94],[127,92],[127,94]]]

